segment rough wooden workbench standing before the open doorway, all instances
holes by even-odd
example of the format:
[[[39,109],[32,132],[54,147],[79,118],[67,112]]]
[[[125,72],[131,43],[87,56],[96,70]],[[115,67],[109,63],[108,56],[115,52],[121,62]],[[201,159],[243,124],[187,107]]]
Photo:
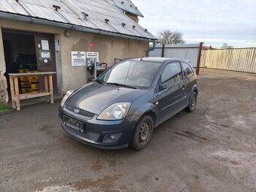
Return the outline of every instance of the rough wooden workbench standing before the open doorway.
[[[53,104],[53,75],[56,72],[36,72],[36,73],[10,73],[10,87],[11,87],[11,103],[13,108],[20,111],[20,100],[32,99],[36,97],[49,96],[50,103]],[[41,76],[44,78],[44,91],[38,93],[20,94],[19,78],[24,76]]]

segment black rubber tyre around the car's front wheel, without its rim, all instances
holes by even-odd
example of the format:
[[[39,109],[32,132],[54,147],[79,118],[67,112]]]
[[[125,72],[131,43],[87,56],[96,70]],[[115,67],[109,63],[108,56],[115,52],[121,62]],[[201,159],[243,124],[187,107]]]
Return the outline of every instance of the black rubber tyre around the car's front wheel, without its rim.
[[[140,133],[142,124],[145,123],[146,121],[148,123],[150,123],[150,133],[149,133],[148,141],[145,143],[145,145],[142,145],[139,142],[139,133]],[[154,124],[153,124],[152,118],[150,116],[148,116],[148,115],[145,115],[144,117],[142,117],[142,119],[139,120],[139,123],[136,126],[136,130],[135,130],[134,135],[133,135],[133,142],[132,142],[132,145],[131,145],[132,148],[134,148],[134,149],[139,151],[139,150],[142,150],[143,148],[147,147],[148,144],[151,142],[151,137],[152,137],[152,134],[153,134],[153,129],[154,129]]]

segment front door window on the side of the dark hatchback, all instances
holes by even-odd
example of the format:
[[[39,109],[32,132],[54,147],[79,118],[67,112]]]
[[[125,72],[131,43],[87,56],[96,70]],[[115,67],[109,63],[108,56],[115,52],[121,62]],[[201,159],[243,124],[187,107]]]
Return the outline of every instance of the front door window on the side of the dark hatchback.
[[[165,69],[163,69],[160,82],[163,86],[169,87],[172,84],[181,81],[181,79],[181,65],[179,62],[171,62],[167,64]]]

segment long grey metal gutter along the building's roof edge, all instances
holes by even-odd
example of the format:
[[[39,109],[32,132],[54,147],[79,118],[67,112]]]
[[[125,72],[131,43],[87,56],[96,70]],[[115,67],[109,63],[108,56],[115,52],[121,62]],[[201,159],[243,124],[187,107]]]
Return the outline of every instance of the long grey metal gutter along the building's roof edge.
[[[26,23],[36,23],[36,24],[42,24],[42,25],[47,25],[47,26],[55,26],[55,27],[59,27],[62,29],[75,30],[75,31],[79,31],[79,32],[91,32],[91,33],[95,33],[98,35],[108,35],[108,36],[112,36],[112,37],[129,38],[129,39],[138,40],[138,41],[155,41],[156,40],[156,39],[151,39],[151,38],[141,38],[141,37],[137,37],[137,36],[133,36],[133,35],[121,34],[121,33],[117,33],[117,32],[108,32],[108,31],[101,30],[101,29],[92,29],[92,28],[85,27],[85,26],[77,26],[77,25],[70,24],[70,23],[61,23],[58,21],[41,19],[39,17],[30,17],[30,16],[26,16],[26,15],[22,15],[22,14],[13,14],[10,12],[3,12],[3,11],[0,11],[0,18],[8,19],[8,20],[18,20],[18,21],[23,21]]]

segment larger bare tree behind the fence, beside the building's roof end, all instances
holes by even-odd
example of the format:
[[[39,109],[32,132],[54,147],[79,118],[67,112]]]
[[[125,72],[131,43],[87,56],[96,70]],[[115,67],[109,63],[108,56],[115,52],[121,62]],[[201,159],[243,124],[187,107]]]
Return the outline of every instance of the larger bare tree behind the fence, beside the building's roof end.
[[[181,32],[172,32],[169,29],[165,29],[158,32],[157,38],[161,44],[184,44]]]

